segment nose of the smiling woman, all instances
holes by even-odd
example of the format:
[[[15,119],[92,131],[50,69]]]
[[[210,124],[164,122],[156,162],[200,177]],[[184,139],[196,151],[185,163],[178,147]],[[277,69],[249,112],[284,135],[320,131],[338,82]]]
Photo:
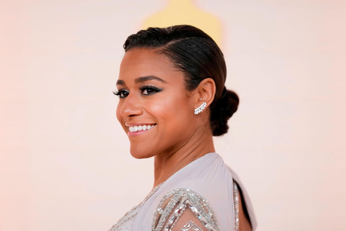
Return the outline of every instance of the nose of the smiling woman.
[[[141,115],[143,113],[143,108],[140,105],[140,99],[136,97],[135,94],[128,94],[128,96],[119,102],[120,115],[124,118]]]

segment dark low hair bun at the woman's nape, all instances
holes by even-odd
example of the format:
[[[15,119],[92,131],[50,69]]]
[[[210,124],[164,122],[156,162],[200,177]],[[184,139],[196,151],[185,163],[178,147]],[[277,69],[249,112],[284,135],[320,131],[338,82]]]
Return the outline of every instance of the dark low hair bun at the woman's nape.
[[[210,123],[213,136],[220,136],[228,131],[227,121],[237,111],[239,97],[236,92],[227,90],[225,87],[221,98],[215,103],[215,106],[211,109]]]

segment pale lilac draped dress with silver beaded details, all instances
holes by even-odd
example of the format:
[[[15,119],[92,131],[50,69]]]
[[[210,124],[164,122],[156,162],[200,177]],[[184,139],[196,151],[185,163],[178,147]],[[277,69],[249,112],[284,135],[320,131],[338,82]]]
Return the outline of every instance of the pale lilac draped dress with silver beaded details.
[[[254,231],[242,182],[219,154],[209,152],[156,186],[109,231],[238,231],[240,192]]]

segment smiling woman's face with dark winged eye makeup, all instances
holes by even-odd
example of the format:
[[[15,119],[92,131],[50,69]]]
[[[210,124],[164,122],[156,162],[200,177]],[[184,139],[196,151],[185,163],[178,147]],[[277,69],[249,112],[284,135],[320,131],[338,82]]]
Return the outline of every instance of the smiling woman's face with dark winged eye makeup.
[[[160,79],[156,79],[160,78]],[[197,128],[194,91],[184,89],[184,75],[165,55],[145,48],[127,51],[117,82],[117,118],[130,140],[135,158],[170,154],[188,142]],[[130,132],[127,125],[154,125]],[[143,127],[142,127],[143,129]]]

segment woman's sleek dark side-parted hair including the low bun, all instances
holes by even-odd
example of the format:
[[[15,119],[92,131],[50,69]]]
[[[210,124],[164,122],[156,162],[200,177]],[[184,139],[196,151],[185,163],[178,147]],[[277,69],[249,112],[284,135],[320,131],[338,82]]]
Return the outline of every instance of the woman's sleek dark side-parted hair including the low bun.
[[[236,112],[239,97],[225,87],[224,55],[209,35],[190,25],[148,27],[128,36],[124,48],[125,52],[131,48],[149,48],[165,54],[185,74],[186,90],[192,91],[203,79],[212,78],[216,92],[210,105],[210,128],[213,136],[227,133],[227,121]]]

